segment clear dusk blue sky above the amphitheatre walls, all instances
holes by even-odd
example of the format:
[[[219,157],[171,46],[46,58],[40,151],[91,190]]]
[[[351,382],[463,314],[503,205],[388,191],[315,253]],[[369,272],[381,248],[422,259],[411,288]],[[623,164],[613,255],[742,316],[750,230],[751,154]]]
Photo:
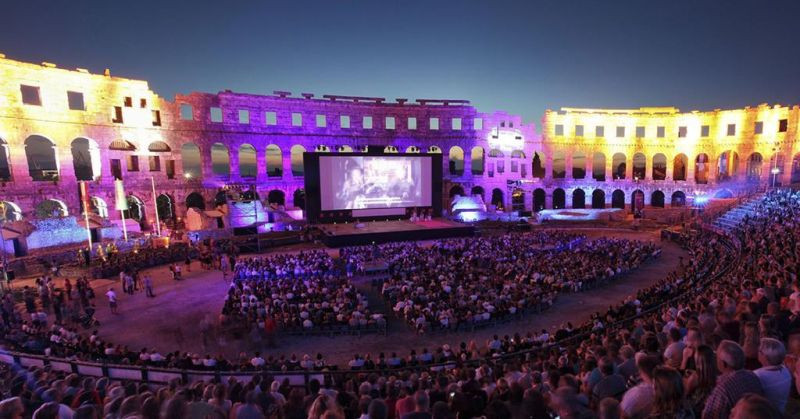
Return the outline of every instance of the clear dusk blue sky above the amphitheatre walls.
[[[191,91],[546,108],[800,103],[798,1],[6,1],[0,52]]]

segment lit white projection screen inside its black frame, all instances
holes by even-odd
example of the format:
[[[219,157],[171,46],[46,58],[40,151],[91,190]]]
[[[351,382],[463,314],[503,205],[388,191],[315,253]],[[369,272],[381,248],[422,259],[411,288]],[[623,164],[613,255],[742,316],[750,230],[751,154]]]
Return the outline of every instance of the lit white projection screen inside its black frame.
[[[431,206],[427,156],[320,156],[322,211]]]

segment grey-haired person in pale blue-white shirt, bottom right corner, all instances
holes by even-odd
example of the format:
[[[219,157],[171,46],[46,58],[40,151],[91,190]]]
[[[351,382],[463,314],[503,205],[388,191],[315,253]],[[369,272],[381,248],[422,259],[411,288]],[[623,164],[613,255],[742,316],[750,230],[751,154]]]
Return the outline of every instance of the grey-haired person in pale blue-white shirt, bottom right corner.
[[[763,367],[753,371],[761,381],[764,395],[781,413],[786,410],[786,402],[792,386],[792,374],[783,365],[785,357],[786,347],[783,342],[773,338],[761,338],[758,347],[758,362]]]

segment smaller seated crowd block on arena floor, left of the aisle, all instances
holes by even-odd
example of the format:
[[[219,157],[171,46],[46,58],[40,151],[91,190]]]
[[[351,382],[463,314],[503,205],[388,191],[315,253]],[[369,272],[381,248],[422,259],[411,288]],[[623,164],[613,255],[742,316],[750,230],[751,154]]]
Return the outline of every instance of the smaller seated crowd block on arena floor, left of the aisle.
[[[241,258],[221,323],[267,333],[384,328],[383,315],[368,305],[324,250]]]

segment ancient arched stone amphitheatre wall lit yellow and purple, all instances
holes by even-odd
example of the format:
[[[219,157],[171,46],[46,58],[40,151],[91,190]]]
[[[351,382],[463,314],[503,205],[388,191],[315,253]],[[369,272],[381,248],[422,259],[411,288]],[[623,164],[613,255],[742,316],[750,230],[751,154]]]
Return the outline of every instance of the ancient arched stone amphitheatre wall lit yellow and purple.
[[[531,211],[625,206],[641,190],[647,205],[681,205],[735,194],[748,180],[800,182],[798,114],[766,105],[565,108],[547,111],[538,135],[519,116],[462,100],[224,91],[170,101],[146,81],[0,56],[0,199],[8,219],[47,218],[54,208],[80,215],[86,180],[92,212],[116,220],[120,178],[134,207],[127,216],[143,228],[154,220],[153,195],[161,218],[211,207],[226,186],[302,207],[302,152],[382,146],[445,153],[444,200],[477,193],[504,210]]]

